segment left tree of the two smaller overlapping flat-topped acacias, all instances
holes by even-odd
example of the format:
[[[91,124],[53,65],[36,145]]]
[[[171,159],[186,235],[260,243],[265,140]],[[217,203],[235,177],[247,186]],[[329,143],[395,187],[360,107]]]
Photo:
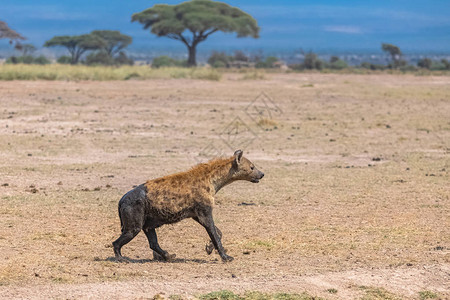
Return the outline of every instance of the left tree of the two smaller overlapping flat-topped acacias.
[[[44,47],[65,47],[71,55],[71,64],[77,64],[88,50],[98,50],[105,46],[105,41],[98,36],[91,34],[75,36],[55,36],[45,42]]]

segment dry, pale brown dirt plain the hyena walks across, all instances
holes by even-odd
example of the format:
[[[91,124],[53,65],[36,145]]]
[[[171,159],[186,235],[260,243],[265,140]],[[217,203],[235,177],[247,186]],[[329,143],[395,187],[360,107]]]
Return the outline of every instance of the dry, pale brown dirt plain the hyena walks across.
[[[0,104],[0,298],[450,298],[450,77],[14,81]],[[125,192],[239,148],[266,176],[217,194],[233,262],[192,220],[157,230],[176,261],[143,234],[114,261]]]

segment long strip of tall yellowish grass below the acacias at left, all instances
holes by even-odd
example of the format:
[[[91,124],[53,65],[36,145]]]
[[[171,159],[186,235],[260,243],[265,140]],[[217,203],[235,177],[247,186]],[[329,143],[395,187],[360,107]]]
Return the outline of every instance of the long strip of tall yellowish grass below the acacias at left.
[[[159,68],[148,66],[0,65],[0,80],[145,80],[186,78],[218,81],[221,74],[206,68]]]

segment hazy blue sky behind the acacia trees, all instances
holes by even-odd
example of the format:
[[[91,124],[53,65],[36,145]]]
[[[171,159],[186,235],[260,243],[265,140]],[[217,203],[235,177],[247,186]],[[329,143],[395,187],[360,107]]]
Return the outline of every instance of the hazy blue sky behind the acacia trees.
[[[184,50],[131,23],[131,15],[157,3],[150,0],[1,0],[0,20],[41,47],[55,35],[120,30],[133,37],[134,50]],[[224,1],[252,15],[260,38],[216,33],[204,50],[264,50],[381,53],[381,43],[404,53],[450,54],[450,0],[248,0]],[[7,41],[1,40],[0,47]]]

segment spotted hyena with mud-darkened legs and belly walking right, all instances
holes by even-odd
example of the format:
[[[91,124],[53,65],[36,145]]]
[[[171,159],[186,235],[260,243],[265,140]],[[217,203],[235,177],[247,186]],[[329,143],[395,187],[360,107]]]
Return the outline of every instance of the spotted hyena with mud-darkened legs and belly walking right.
[[[155,229],[192,218],[208,232],[212,245],[223,261],[231,261],[221,243],[221,232],[214,225],[212,210],[214,195],[224,186],[247,180],[258,183],[264,177],[255,165],[237,150],[230,158],[215,159],[199,164],[189,171],[149,180],[126,193],[119,201],[121,236],[113,242],[116,259],[123,261],[121,248],[141,230],[147,236],[156,256],[166,261],[175,258],[161,249]],[[210,254],[212,246],[207,246]]]

